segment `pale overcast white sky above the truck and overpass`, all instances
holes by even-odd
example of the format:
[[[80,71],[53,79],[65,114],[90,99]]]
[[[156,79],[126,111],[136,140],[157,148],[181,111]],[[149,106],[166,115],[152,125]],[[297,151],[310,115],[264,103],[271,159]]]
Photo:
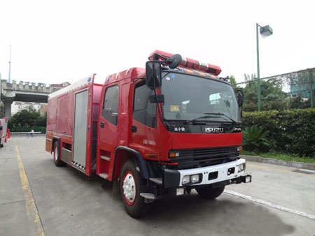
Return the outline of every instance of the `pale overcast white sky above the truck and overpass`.
[[[102,83],[162,50],[243,82],[257,74],[256,23],[274,33],[259,36],[265,78],[315,67],[314,22],[312,0],[2,0],[1,79]]]

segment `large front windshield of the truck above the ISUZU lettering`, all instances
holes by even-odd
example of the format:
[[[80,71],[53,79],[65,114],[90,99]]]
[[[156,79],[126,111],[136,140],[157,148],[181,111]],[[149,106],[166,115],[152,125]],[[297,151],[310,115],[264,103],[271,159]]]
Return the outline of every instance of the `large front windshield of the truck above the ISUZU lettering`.
[[[165,96],[163,117],[185,121],[241,120],[239,107],[230,84],[220,80],[165,73],[161,93]]]

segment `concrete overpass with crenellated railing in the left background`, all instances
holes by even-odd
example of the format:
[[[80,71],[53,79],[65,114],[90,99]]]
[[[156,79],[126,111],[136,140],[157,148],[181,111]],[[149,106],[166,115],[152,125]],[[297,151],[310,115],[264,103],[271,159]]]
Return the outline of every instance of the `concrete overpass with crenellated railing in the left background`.
[[[11,117],[11,105],[13,101],[47,103],[48,94],[68,86],[69,83],[52,84],[49,87],[46,84],[35,84],[25,82],[8,83],[6,80],[1,80],[0,100],[4,104],[5,117]]]

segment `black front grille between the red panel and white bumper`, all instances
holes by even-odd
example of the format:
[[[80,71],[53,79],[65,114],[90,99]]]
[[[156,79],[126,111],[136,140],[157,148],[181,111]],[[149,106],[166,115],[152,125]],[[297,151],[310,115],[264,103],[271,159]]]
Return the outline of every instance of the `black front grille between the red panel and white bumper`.
[[[172,163],[179,163],[179,169],[198,168],[235,161],[239,156],[237,147],[212,147],[200,149],[172,150],[179,156],[172,157]]]

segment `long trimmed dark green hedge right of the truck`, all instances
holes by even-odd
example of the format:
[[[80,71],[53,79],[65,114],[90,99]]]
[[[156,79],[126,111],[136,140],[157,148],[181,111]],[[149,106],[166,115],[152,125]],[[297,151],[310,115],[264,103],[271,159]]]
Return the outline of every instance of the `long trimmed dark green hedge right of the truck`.
[[[269,147],[275,152],[315,158],[314,117],[314,108],[243,112],[242,126],[243,130],[255,125],[269,131]]]

